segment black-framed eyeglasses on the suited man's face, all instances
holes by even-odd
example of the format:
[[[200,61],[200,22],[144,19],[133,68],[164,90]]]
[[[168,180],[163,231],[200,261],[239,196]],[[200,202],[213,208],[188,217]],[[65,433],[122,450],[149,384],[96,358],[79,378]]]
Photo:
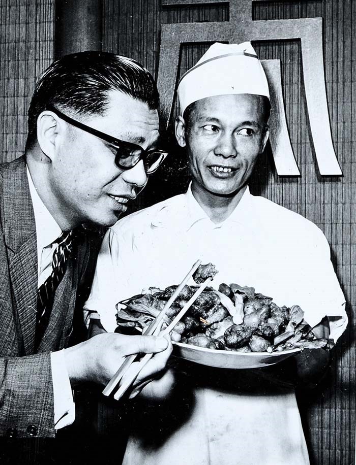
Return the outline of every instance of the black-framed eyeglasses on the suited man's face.
[[[65,115],[60,110],[54,108],[52,105],[48,105],[47,110],[52,111],[67,123],[72,124],[73,126],[82,129],[83,131],[86,131],[89,134],[92,134],[93,136],[98,137],[99,139],[102,139],[103,141],[112,145],[116,149],[115,164],[122,170],[131,170],[131,168],[133,168],[140,160],[142,160],[146,174],[152,174],[158,169],[159,165],[168,155],[168,153],[164,152],[163,150],[144,150],[137,144],[121,141],[120,139],[109,136],[108,134],[105,134],[105,132],[101,132],[98,129],[94,129],[93,127],[87,126],[86,124],[80,123],[70,116]]]

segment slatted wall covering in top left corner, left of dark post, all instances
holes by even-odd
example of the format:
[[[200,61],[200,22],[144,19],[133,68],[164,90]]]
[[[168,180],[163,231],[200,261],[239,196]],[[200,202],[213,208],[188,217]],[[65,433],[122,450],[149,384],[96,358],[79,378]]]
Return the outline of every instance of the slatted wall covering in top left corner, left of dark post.
[[[0,161],[22,155],[27,107],[53,59],[54,0],[0,0]]]

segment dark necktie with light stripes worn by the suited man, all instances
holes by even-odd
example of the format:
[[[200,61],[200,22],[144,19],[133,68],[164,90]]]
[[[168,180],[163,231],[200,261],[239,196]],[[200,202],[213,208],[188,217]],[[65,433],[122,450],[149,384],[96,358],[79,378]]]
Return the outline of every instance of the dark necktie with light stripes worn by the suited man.
[[[66,272],[68,258],[73,248],[73,230],[63,232],[55,242],[57,247],[52,256],[52,272],[46,281],[41,284],[37,294],[36,349],[38,349],[48,325],[54,293]]]

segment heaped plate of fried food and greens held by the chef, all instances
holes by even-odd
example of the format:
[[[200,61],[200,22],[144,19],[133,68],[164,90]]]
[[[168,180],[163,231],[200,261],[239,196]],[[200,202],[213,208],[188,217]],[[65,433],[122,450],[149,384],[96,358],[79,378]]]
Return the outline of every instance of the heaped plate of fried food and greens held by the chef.
[[[168,326],[191,302],[199,285],[217,274],[212,263],[200,265],[165,312]],[[166,306],[177,286],[150,287],[117,304],[117,325],[142,331]],[[209,367],[247,369],[280,362],[306,348],[330,348],[332,341],[318,339],[298,305],[278,306],[254,287],[221,283],[206,286],[183,318],[174,326],[180,342],[173,353]]]

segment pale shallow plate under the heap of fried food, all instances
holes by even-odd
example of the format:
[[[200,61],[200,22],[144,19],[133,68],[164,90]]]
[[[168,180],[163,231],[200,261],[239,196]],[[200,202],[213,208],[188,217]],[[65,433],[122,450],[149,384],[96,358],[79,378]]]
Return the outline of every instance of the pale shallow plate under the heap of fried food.
[[[216,368],[261,368],[278,363],[301,349],[281,352],[232,352],[227,350],[205,349],[181,342],[173,342],[173,354],[186,360]]]

